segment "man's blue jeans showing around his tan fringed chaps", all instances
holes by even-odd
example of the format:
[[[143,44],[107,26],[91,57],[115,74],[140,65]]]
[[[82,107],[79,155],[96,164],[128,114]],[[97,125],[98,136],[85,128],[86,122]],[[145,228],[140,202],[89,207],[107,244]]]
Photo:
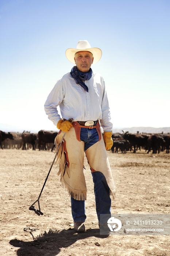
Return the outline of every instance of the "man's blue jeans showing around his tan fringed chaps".
[[[98,133],[95,128],[81,128],[80,139],[84,141],[84,151],[94,143],[98,142]],[[96,212],[98,223],[100,223],[100,214],[111,214],[110,189],[107,181],[101,172],[93,172],[94,195],[96,200]],[[85,222],[85,200],[75,200],[71,197],[72,216],[74,222]],[[102,222],[105,222],[102,220]]]

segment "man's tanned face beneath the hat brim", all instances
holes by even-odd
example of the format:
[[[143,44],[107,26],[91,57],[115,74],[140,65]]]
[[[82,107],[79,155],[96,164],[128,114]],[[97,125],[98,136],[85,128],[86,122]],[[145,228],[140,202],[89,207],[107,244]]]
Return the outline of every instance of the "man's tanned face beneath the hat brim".
[[[82,72],[89,71],[89,69],[93,63],[93,59],[94,59],[94,57],[93,57],[92,53],[86,52],[86,51],[77,52],[74,57],[74,60],[75,60],[78,70],[80,70]]]

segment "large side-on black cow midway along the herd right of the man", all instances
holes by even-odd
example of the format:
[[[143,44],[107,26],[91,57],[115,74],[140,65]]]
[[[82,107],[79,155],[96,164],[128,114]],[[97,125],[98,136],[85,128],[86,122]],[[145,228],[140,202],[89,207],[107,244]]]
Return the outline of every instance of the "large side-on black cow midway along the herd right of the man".
[[[123,138],[127,139],[130,142],[131,146],[134,147],[133,153],[136,153],[136,147],[147,147],[148,137],[149,135],[140,135],[128,132],[125,132],[123,134]]]

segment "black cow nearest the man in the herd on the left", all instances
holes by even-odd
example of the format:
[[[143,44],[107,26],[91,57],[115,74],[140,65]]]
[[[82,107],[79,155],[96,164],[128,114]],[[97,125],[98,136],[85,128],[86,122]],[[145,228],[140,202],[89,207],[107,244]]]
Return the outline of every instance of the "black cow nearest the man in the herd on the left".
[[[53,147],[51,148],[51,151],[53,151],[53,148],[55,147],[54,140],[57,134],[58,132],[54,132],[54,131],[45,131],[45,130],[39,131],[38,132],[39,150],[41,149],[41,145],[43,146],[43,148],[45,148],[45,150],[47,150],[46,143],[53,143]]]

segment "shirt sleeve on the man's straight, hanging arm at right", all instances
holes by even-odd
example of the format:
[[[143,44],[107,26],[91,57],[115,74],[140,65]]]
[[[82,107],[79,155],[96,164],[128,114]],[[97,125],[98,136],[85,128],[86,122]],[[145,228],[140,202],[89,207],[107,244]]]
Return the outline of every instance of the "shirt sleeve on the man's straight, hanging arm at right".
[[[109,108],[109,102],[107,97],[107,92],[105,90],[105,82],[103,80],[103,99],[101,103],[101,111],[102,111],[102,119],[100,120],[101,127],[104,132],[111,132],[113,128],[113,124],[111,123],[111,113]]]

